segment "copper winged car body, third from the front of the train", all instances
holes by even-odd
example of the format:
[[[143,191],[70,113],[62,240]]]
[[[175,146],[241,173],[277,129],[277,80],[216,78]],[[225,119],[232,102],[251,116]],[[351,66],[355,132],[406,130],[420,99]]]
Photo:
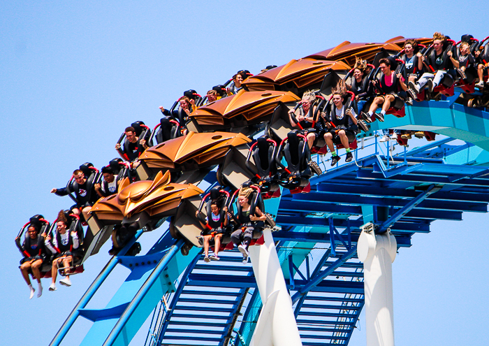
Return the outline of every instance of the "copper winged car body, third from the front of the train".
[[[279,102],[299,101],[291,92],[246,92],[224,97],[202,106],[191,113],[190,131],[207,132],[226,130],[249,136],[259,130],[260,124],[269,122]]]

